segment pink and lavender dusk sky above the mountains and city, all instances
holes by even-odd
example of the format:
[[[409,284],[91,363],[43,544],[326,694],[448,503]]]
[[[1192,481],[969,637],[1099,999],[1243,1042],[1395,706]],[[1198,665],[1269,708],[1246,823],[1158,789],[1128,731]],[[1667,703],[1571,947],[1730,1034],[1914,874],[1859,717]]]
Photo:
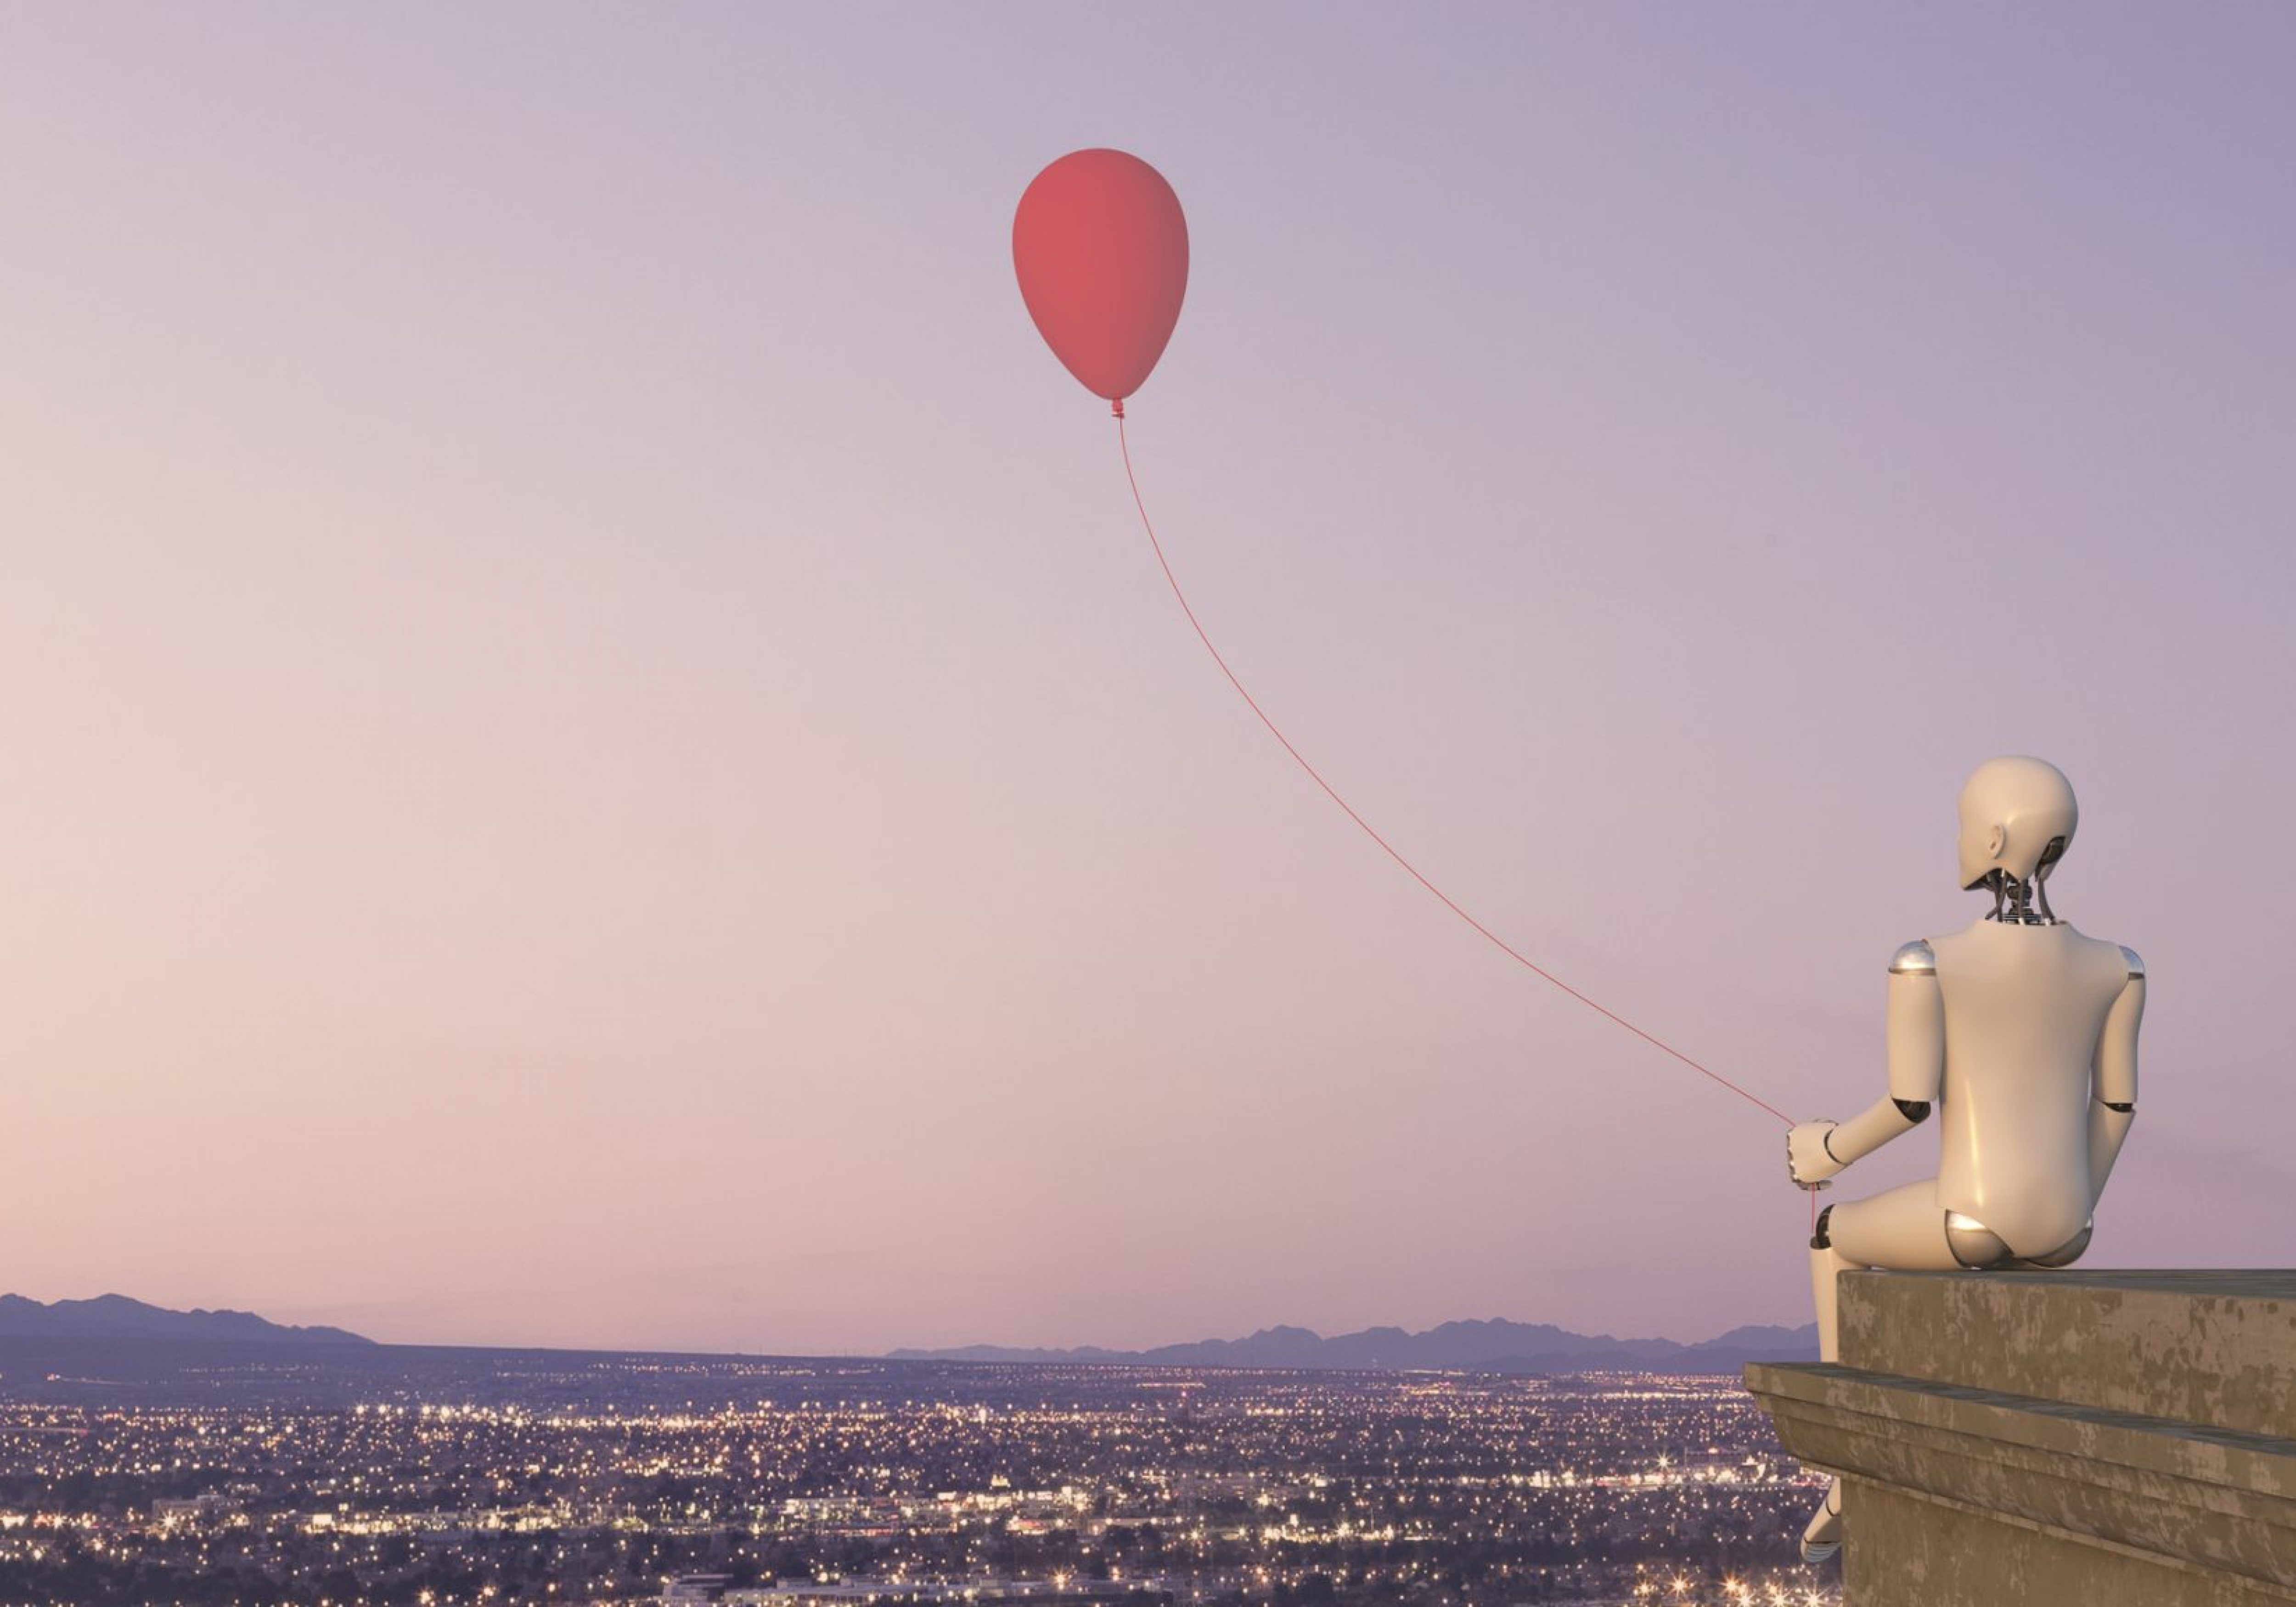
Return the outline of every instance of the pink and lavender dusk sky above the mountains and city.
[[[1807,1322],[2073,778],[2092,1265],[2296,1263],[2296,9],[0,7],[0,1288],[436,1343]],[[1926,1175],[1933,1127],[1832,1196]]]

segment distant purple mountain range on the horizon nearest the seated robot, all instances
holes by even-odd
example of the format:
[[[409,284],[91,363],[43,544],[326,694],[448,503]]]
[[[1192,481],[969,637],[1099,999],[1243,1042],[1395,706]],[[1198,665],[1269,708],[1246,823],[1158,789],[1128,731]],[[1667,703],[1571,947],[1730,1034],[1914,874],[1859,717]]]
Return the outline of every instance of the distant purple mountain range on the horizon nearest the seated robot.
[[[1155,1350],[895,1350],[895,1361],[1123,1361],[1134,1366],[1364,1368],[1449,1373],[1736,1373],[1747,1361],[1816,1361],[1818,1329],[1733,1327],[1697,1345],[1671,1338],[1573,1334],[1552,1322],[1444,1322],[1426,1334],[1366,1327],[1325,1338],[1304,1327],[1267,1327],[1251,1338],[1205,1338]]]

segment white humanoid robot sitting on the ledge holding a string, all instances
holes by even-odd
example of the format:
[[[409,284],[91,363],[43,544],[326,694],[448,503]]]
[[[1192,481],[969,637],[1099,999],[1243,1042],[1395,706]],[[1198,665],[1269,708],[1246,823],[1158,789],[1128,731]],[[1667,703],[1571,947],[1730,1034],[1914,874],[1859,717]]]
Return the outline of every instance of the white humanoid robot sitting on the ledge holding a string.
[[[1890,1093],[1846,1123],[1800,1123],[1786,1171],[1805,1189],[1913,1132],[1938,1107],[1938,1175],[1828,1205],[1809,1240],[1818,1359],[1835,1361],[1844,1267],[2066,1267],[2138,1109],[2144,962],[2050,914],[2048,875],[2073,843],[2055,764],[2000,758],[1961,790],[1961,886],[1993,911],[1890,962]],[[1841,1481],[1802,1556],[1841,1550]]]

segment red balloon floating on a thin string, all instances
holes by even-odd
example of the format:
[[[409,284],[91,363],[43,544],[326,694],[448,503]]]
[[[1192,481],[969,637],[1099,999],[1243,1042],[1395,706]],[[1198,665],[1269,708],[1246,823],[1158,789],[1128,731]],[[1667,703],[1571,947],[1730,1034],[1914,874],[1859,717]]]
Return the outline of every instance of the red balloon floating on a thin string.
[[[1052,354],[1123,416],[1180,321],[1180,197],[1139,156],[1070,152],[1019,197],[1013,271]]]

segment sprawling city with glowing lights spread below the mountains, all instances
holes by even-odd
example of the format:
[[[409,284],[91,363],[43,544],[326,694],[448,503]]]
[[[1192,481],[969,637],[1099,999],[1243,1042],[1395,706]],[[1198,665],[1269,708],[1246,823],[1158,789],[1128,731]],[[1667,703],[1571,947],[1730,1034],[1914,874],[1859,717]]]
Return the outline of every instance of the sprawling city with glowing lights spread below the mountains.
[[[1816,1481],[1727,1377],[629,1357],[427,1389],[0,1405],[0,1600],[1832,1600],[1786,1545]]]

